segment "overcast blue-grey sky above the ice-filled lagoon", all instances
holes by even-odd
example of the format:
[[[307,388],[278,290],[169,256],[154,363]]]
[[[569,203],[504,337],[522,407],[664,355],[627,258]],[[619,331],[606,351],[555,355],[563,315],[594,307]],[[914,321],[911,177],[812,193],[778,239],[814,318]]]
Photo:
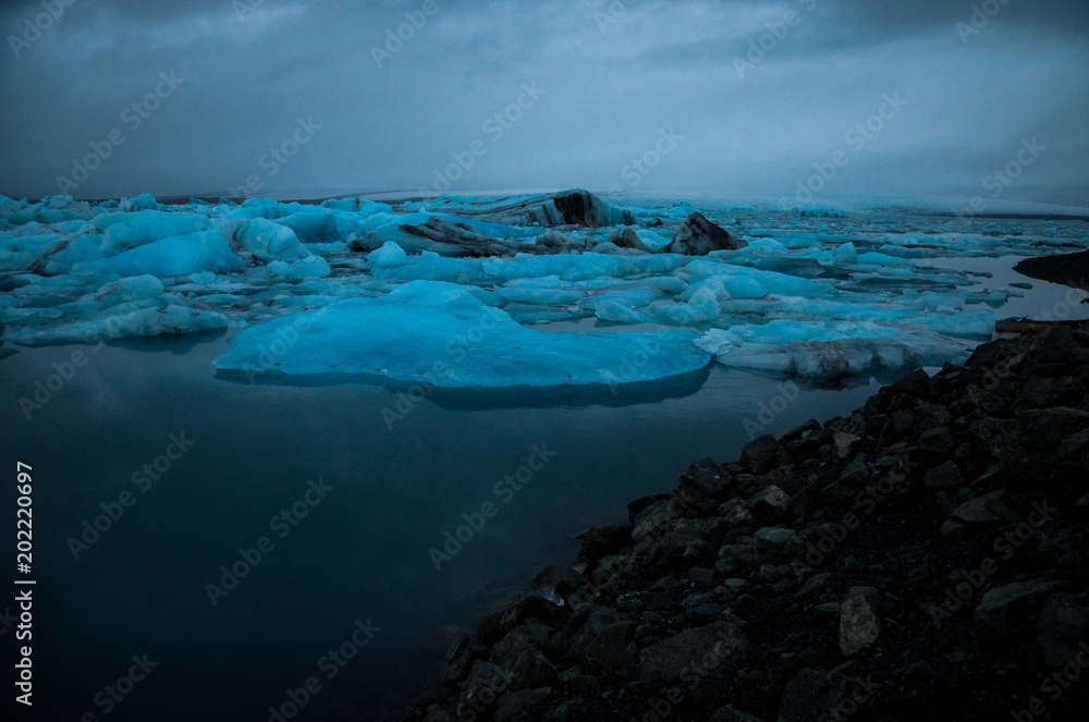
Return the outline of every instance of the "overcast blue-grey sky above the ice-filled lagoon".
[[[823,185],[1089,206],[1089,0],[2,8],[15,197]]]

